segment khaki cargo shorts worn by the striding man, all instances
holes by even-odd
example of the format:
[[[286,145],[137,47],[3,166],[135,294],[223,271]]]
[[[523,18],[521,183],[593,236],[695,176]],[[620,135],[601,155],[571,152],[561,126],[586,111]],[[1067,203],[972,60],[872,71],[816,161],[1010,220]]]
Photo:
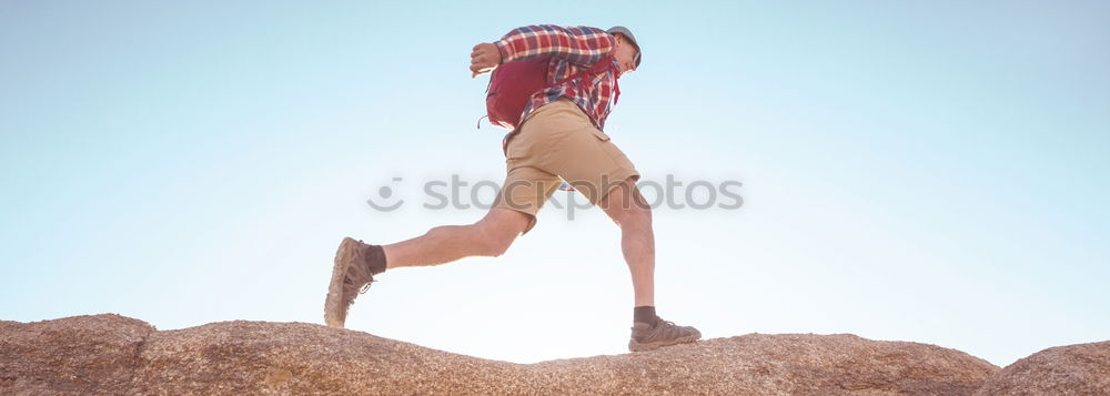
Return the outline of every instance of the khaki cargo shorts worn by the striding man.
[[[598,131],[577,104],[563,98],[536,109],[524,120],[519,133],[505,150],[507,175],[494,207],[532,216],[562,181],[597,205],[628,177],[639,177],[620,149]]]

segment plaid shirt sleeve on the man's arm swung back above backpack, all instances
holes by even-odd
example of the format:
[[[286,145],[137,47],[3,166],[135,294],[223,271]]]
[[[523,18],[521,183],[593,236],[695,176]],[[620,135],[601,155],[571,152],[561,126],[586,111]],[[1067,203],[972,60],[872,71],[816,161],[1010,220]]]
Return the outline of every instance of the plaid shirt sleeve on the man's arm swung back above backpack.
[[[613,51],[616,40],[597,28],[533,24],[513,29],[495,44],[502,63],[552,57],[589,65]]]

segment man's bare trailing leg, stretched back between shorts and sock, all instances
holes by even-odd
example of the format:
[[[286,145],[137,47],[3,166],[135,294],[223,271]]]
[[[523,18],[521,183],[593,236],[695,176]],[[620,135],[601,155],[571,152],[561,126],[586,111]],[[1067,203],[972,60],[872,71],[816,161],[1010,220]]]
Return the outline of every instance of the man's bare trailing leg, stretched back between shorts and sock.
[[[386,268],[451,263],[470,256],[500,256],[532,219],[517,211],[494,207],[477,223],[444,225],[424,235],[382,246]]]

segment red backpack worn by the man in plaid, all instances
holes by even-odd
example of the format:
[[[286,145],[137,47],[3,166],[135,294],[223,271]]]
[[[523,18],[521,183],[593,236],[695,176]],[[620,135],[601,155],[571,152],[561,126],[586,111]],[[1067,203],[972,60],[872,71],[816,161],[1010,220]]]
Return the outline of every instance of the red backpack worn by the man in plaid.
[[[606,55],[589,69],[552,84],[547,83],[547,67],[551,64],[551,58],[502,64],[494,69],[493,75],[490,77],[490,88],[486,89],[486,113],[490,116],[490,123],[515,132],[521,124],[521,113],[524,112],[528,100],[536,92],[587,74],[602,73],[612,63],[613,57]]]

